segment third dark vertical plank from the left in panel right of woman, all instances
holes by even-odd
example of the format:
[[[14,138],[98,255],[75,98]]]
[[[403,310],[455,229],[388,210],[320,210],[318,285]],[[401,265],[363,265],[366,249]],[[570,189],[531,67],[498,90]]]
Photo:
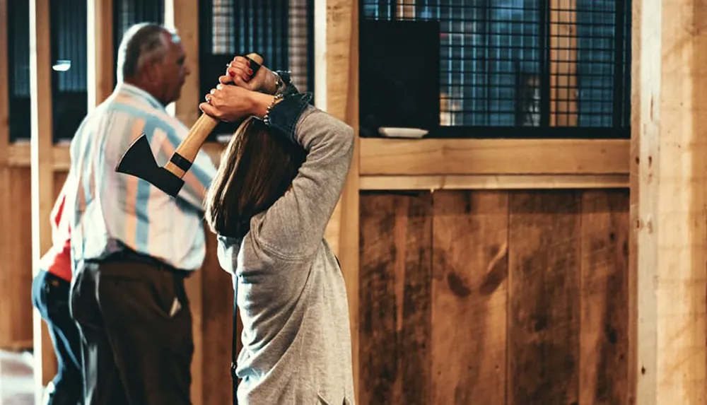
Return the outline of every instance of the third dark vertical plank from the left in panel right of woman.
[[[580,195],[511,192],[508,404],[578,403]]]

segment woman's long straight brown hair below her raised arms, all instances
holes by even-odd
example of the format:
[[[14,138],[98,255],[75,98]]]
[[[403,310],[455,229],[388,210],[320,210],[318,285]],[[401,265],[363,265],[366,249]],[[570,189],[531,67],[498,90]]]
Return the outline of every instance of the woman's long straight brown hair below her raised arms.
[[[306,153],[249,117],[235,131],[206,196],[206,223],[218,235],[243,237],[250,218],[285,194]]]

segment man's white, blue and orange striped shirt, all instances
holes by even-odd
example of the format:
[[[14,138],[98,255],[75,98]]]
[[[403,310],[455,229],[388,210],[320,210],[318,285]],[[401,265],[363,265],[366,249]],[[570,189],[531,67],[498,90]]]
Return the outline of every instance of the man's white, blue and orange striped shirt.
[[[152,95],[119,83],[81,123],[71,141],[71,249],[74,263],[103,259],[128,247],[182,270],[196,270],[206,253],[203,201],[216,175],[200,151],[176,199],[148,182],[115,172],[130,144],[145,134],[158,165],[168,162],[187,127]]]

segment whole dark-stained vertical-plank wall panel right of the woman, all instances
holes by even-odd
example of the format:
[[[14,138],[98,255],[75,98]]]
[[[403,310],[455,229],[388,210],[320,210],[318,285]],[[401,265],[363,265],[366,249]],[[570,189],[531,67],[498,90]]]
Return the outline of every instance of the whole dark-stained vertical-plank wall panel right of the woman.
[[[629,193],[361,195],[360,404],[628,403]]]

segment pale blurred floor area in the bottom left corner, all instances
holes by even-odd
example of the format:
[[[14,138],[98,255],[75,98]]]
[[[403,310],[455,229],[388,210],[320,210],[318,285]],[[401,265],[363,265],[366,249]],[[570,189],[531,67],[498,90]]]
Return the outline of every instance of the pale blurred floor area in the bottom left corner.
[[[0,405],[34,405],[32,355],[0,350]]]

